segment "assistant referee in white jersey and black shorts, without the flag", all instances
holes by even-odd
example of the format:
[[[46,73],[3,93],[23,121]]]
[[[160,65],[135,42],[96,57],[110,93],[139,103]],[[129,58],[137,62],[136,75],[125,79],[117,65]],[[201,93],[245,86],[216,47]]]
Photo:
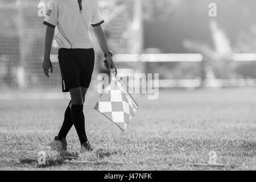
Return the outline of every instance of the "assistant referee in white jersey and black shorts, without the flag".
[[[44,74],[49,77],[53,72],[49,59],[55,26],[59,30],[57,44],[59,46],[59,64],[63,78],[63,92],[69,92],[71,101],[64,114],[64,122],[59,134],[50,146],[57,152],[67,151],[67,134],[74,125],[81,143],[80,152],[90,151],[92,147],[86,137],[83,105],[85,94],[89,88],[94,67],[94,49],[89,36],[89,28],[93,27],[94,35],[108,61],[105,66],[117,68],[112,60],[106,36],[101,24],[98,0],[51,0],[43,24],[47,25],[43,60]]]

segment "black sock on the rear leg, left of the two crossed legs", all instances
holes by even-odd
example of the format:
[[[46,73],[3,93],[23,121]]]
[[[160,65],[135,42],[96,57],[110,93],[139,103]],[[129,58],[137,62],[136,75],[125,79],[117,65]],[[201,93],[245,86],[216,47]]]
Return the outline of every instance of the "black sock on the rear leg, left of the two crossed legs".
[[[63,121],[63,124],[61,126],[61,129],[59,131],[59,134],[57,136],[57,139],[58,140],[61,140],[61,139],[65,139],[67,137],[67,134],[69,132],[69,130],[71,129],[71,127],[73,126],[73,121],[72,121],[72,118],[71,118],[71,108],[70,108],[70,104],[71,104],[71,101],[69,102],[68,104],[68,107],[65,111],[65,114],[64,114],[64,121]]]

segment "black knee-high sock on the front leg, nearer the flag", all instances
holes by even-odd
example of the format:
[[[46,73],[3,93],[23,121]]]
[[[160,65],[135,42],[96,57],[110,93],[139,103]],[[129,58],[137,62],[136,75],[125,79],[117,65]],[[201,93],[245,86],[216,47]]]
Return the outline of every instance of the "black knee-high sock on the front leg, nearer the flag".
[[[85,133],[84,113],[82,111],[83,105],[71,106],[71,117],[75,125],[76,132],[79,135],[80,143],[83,144],[88,141]]]

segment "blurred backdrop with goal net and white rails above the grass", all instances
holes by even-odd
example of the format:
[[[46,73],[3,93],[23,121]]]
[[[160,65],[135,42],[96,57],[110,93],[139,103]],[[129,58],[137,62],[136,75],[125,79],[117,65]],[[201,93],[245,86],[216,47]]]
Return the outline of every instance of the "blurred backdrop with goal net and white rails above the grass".
[[[48,3],[0,0],[1,93],[61,91],[56,40],[53,75],[48,79],[41,67]],[[217,16],[209,16],[210,3]],[[100,0],[119,72],[159,73],[160,88],[256,86],[255,6],[254,0]],[[96,85],[105,69],[94,48]]]

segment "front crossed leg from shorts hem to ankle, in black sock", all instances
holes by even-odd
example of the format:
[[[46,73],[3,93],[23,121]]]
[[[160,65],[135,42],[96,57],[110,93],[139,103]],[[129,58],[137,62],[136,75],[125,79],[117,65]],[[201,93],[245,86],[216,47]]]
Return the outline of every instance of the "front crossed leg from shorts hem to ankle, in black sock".
[[[69,89],[69,93],[71,95],[71,117],[73,124],[75,125],[76,132],[79,135],[79,140],[81,145],[88,142],[88,139],[86,137],[85,133],[85,121],[84,121],[84,98],[83,98],[83,92],[81,87],[79,88],[73,88]]]

